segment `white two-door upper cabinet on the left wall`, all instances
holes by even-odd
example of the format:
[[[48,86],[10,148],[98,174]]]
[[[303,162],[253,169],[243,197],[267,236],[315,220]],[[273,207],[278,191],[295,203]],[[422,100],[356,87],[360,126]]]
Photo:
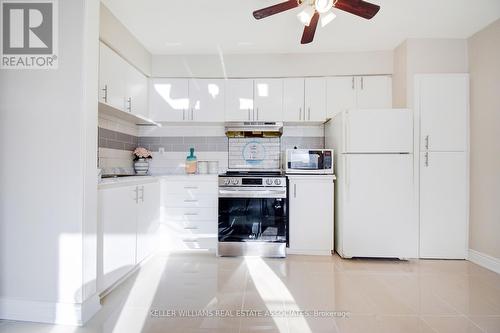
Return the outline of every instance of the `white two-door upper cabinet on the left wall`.
[[[99,102],[148,118],[148,79],[108,46],[99,46]]]

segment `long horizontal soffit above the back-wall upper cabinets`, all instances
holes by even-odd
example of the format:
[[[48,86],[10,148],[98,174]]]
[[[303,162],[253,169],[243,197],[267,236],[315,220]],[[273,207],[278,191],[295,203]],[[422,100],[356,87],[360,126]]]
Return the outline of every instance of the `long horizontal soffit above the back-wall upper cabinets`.
[[[153,77],[293,77],[392,74],[393,52],[154,55]]]

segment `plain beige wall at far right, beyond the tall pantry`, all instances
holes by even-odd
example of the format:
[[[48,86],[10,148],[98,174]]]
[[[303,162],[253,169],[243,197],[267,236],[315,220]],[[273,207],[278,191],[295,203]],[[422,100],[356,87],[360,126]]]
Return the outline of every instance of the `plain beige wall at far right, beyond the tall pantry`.
[[[469,39],[470,247],[500,267],[500,20]]]

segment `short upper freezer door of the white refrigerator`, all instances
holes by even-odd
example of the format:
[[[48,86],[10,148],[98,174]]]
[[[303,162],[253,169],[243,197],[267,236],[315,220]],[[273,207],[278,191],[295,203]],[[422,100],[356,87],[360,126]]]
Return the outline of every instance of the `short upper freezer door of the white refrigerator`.
[[[344,152],[413,152],[413,113],[409,109],[350,110],[344,119]]]

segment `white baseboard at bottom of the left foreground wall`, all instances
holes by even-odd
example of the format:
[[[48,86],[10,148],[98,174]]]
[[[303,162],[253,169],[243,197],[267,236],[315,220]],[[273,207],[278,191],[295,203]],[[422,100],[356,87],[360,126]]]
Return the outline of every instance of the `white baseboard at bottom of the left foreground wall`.
[[[82,326],[101,308],[98,295],[84,303],[54,303],[0,299],[0,319]]]

